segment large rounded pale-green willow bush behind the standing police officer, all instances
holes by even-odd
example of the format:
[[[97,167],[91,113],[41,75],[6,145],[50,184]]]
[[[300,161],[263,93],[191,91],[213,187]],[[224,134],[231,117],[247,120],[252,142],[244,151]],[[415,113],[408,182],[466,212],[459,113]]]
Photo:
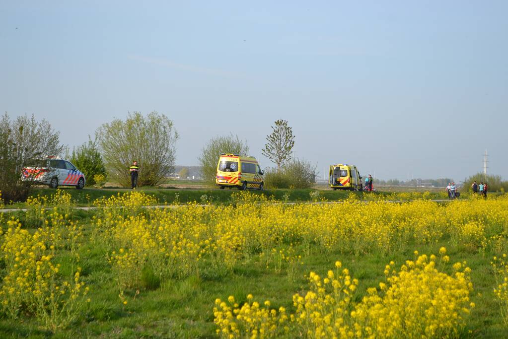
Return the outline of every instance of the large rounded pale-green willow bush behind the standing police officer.
[[[109,178],[122,186],[131,183],[134,160],[141,167],[139,186],[155,186],[174,171],[179,135],[164,114],[129,113],[125,120],[103,124],[96,135]]]

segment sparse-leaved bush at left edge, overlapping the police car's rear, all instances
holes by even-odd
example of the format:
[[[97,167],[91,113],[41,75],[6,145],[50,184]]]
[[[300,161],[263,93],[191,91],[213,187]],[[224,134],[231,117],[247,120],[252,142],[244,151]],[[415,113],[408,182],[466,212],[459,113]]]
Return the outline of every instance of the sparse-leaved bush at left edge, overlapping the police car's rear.
[[[11,120],[7,113],[0,119],[0,191],[4,201],[22,201],[35,184],[35,175],[23,169],[35,165],[35,159],[60,155],[59,132],[46,120],[37,121],[32,115]],[[24,175],[26,174],[26,177]],[[23,176],[23,180],[21,180]]]

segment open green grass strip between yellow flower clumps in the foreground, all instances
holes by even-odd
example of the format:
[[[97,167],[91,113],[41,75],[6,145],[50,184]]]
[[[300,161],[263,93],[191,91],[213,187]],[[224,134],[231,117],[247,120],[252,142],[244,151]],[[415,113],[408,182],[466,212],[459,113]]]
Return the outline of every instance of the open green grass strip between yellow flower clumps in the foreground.
[[[22,213],[17,212],[20,216]],[[86,231],[91,231],[91,212],[81,211],[75,217],[80,223],[87,224]],[[494,278],[490,261],[494,253],[481,253],[463,247],[452,247],[446,241],[434,245],[410,244],[397,248],[388,256],[379,253],[354,255],[343,253],[314,253],[303,255],[302,266],[298,267],[295,280],[290,280],[282,270],[275,273],[273,267],[266,269],[257,255],[252,255],[239,262],[233,273],[227,275],[202,272],[201,276],[190,276],[180,280],[154,282],[150,273],[146,273],[147,284],[135,295],[129,293],[129,303],[122,306],[118,298],[113,274],[106,260],[107,250],[101,244],[87,243],[80,249],[83,267],[82,276],[90,287],[89,297],[92,302],[84,307],[84,317],[69,329],[54,334],[56,338],[90,337],[90,338],[208,338],[214,337],[213,306],[215,298],[226,299],[234,295],[237,300],[245,301],[246,295],[252,293],[255,300],[270,299],[272,307],[284,306],[294,311],[292,296],[307,289],[304,278],[310,271],[320,275],[326,274],[334,267],[336,260],[341,260],[343,267],[351,271],[354,278],[360,280],[355,300],[361,300],[368,287],[377,286],[384,281],[385,265],[394,260],[400,267],[406,259],[414,259],[413,252],[437,254],[441,246],[448,249],[451,263],[468,262],[472,269],[474,295],[472,301],[477,304],[468,319],[467,329],[472,331],[465,337],[508,337],[508,327],[504,326],[494,299]],[[497,253],[498,254],[498,253]],[[68,253],[61,252],[57,261],[66,267]],[[449,265],[451,272],[451,264]],[[159,284],[160,283],[160,284]],[[21,318],[16,322],[0,319],[0,337],[46,338],[53,336],[39,328],[31,318]]]

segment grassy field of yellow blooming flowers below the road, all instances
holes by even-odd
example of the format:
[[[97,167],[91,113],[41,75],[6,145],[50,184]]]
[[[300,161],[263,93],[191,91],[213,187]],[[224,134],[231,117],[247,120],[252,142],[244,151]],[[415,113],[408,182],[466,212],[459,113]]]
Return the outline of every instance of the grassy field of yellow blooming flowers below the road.
[[[92,211],[60,190],[31,198],[0,217],[0,333],[508,335],[508,197],[394,197],[288,204],[238,192],[146,208],[156,199],[136,191]]]

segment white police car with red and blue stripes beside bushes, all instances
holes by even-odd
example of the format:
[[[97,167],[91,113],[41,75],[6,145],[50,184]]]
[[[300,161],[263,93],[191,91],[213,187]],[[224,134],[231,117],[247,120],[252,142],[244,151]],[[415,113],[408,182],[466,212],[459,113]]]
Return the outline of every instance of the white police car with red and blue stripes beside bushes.
[[[23,180],[33,180],[50,188],[61,186],[76,186],[82,189],[85,186],[85,175],[78,171],[69,160],[46,157],[29,160],[23,168]]]

